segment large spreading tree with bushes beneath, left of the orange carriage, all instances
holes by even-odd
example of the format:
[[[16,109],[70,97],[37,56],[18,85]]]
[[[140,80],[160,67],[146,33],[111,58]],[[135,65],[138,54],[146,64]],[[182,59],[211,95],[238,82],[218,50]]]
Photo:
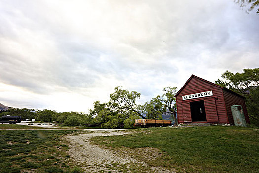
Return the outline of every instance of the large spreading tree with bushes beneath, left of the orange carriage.
[[[88,122],[91,126],[100,125],[103,128],[132,128],[134,119],[142,116],[136,104],[139,98],[140,93],[136,91],[130,92],[121,87],[115,87],[115,92],[110,94],[108,103],[94,102],[94,109],[90,110],[87,116],[92,121]]]

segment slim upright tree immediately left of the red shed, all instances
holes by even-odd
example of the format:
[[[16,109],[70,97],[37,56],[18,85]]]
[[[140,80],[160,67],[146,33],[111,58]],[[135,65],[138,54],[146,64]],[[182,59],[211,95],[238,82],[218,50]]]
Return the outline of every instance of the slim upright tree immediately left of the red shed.
[[[165,104],[165,108],[167,110],[167,112],[165,112],[166,114],[171,114],[172,118],[174,119],[174,125],[177,125],[177,117],[176,117],[176,98],[174,97],[176,94],[176,89],[177,87],[165,87],[163,89],[163,91],[165,92],[163,94],[163,102]]]

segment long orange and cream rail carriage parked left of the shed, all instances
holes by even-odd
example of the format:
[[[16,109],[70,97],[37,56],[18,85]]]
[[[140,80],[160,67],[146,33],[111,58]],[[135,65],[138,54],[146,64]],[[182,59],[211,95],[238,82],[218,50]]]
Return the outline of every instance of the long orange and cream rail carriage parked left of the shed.
[[[171,120],[135,119],[134,127],[160,127],[172,125]]]

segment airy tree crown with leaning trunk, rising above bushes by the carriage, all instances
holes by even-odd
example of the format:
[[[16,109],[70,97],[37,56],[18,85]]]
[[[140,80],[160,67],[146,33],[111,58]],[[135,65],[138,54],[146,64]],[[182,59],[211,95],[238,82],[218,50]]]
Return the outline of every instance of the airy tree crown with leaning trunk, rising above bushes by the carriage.
[[[111,109],[118,111],[119,113],[129,118],[132,112],[136,113],[138,116],[146,119],[137,108],[136,100],[140,98],[140,93],[136,91],[129,92],[126,89],[121,89],[120,86],[115,87],[115,92],[110,94],[109,104]]]

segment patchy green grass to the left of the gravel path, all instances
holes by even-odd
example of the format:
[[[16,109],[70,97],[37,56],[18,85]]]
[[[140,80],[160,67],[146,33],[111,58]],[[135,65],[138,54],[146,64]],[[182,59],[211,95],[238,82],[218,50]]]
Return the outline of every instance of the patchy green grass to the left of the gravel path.
[[[78,168],[66,157],[68,146],[60,140],[72,133],[0,130],[0,173],[75,173]]]

